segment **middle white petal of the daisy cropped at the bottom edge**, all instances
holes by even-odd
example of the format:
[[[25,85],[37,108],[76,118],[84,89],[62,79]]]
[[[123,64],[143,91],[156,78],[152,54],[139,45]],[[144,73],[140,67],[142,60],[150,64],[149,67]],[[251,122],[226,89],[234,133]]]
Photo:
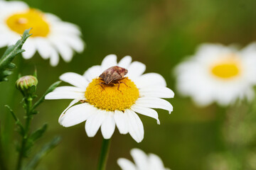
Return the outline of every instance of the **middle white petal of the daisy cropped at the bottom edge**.
[[[147,162],[147,155],[141,149],[132,149],[131,155],[138,169],[149,168],[149,162]]]

